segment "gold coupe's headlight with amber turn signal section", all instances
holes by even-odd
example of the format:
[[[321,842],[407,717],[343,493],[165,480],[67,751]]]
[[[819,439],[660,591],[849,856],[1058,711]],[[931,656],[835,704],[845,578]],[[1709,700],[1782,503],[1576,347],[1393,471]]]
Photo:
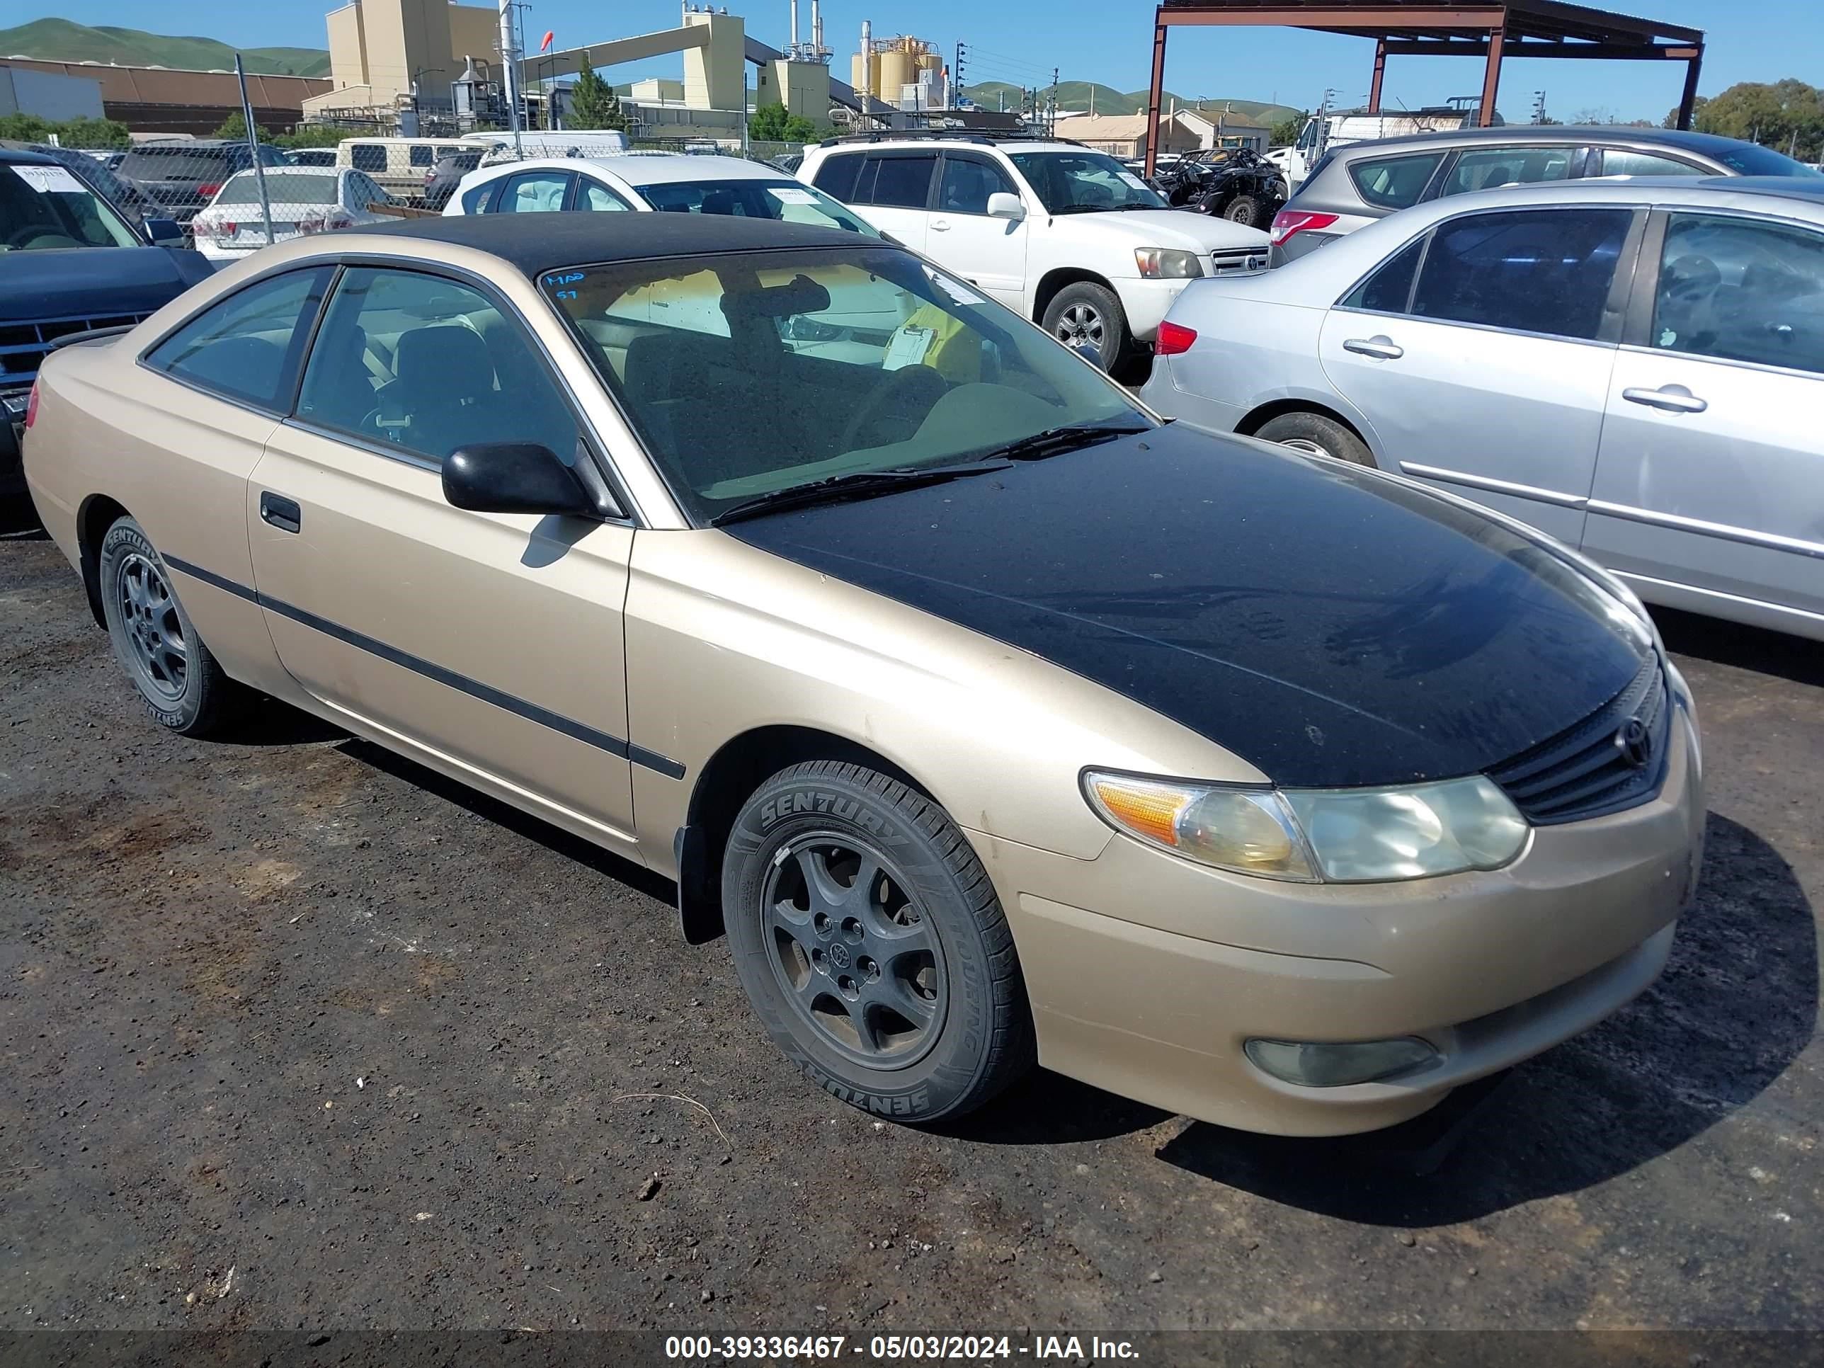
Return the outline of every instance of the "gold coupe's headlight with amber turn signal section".
[[[1384,883],[1494,870],[1527,821],[1485,775],[1399,788],[1229,788],[1089,770],[1118,832],[1200,865],[1297,883]]]

